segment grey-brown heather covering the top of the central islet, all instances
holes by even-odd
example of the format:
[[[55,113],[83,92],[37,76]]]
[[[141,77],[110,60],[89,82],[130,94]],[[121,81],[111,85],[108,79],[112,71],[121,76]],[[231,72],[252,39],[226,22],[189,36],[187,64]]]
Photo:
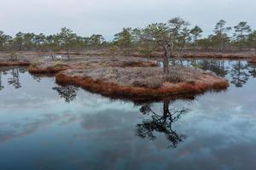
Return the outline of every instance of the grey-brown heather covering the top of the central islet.
[[[164,74],[160,67],[102,67],[83,70],[67,71],[73,76],[91,77],[95,81],[101,80],[113,82],[124,86],[141,88],[160,88],[164,82],[188,82],[195,83],[207,75],[213,75],[209,71],[201,71],[190,67],[172,66],[170,73]]]

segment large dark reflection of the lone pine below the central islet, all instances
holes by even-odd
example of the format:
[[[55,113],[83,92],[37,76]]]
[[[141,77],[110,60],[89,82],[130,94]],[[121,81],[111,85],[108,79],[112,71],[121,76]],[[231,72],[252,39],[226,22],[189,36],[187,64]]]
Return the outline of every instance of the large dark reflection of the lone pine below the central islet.
[[[170,101],[164,101],[162,115],[154,112],[150,105],[143,105],[140,111],[144,115],[150,116],[151,119],[143,121],[142,124],[137,124],[137,135],[143,139],[156,139],[154,132],[164,133],[166,138],[172,142],[171,147],[177,147],[177,144],[183,141],[184,135],[178,134],[176,131],[172,130],[172,123],[177,122],[188,110],[170,109],[169,105]]]

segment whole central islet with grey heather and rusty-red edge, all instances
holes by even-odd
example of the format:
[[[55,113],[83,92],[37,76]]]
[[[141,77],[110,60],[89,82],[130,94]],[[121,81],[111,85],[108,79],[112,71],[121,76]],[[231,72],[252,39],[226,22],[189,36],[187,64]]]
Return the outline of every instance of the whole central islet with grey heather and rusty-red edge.
[[[211,72],[177,66],[172,67],[167,76],[160,68],[135,67],[67,70],[55,77],[61,84],[74,84],[104,96],[134,100],[166,99],[228,87],[228,82]]]

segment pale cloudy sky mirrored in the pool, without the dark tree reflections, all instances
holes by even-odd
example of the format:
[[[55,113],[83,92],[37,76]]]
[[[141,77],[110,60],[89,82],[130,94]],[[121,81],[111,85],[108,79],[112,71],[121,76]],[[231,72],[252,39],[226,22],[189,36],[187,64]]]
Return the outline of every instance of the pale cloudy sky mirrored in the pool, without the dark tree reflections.
[[[208,93],[193,102],[177,100],[174,103],[177,108],[185,106],[191,111],[173,126],[187,139],[171,150],[161,133],[156,133],[155,141],[136,136],[137,123],[147,118],[139,113],[140,106],[111,101],[84,90],[79,90],[77,99],[67,104],[51,90],[55,86],[52,80],[43,78],[38,83],[26,74],[23,76],[22,88],[16,91],[6,87],[0,92],[0,147],[14,146],[12,139],[22,144],[33,143],[44,130],[43,137],[50,142],[37,145],[36,153],[27,150],[24,158],[35,154],[38,164],[47,164],[48,169],[76,166],[250,170],[256,167],[252,88],[256,81],[250,80],[243,88],[229,88],[224,93]],[[153,107],[161,111],[162,103]],[[27,140],[20,138],[27,135],[30,137]],[[15,152],[14,148],[9,152]],[[11,157],[15,157],[13,153]]]

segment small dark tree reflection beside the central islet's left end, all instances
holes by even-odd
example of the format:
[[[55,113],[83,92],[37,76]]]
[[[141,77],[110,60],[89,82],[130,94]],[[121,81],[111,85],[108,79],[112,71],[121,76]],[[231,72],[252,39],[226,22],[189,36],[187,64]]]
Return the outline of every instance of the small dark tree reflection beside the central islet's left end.
[[[67,103],[70,103],[71,101],[76,99],[77,92],[79,90],[79,88],[75,88],[71,86],[55,87],[52,89],[56,90],[59,93],[60,97],[65,99]]]

